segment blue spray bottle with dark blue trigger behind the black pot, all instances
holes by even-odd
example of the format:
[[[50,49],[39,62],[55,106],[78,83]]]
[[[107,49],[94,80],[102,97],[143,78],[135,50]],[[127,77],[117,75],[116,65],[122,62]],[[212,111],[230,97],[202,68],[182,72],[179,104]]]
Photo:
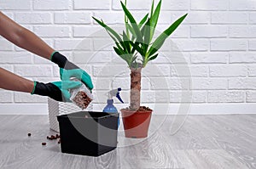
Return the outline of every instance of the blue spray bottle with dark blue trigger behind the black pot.
[[[107,100],[107,105],[104,108],[103,112],[107,112],[107,113],[117,113],[118,110],[116,109],[116,107],[113,106],[113,97],[116,97],[117,99],[119,99],[119,101],[121,103],[124,104],[124,101],[121,99],[119,92],[122,89],[119,87],[117,89],[113,89],[111,91],[108,92],[108,100]],[[118,126],[119,126],[119,120],[118,120]]]

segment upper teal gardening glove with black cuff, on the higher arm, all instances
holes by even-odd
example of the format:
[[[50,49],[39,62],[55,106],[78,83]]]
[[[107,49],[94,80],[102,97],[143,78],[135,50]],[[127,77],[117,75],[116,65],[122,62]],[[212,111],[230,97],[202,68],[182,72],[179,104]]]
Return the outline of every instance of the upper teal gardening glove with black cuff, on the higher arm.
[[[51,55],[50,60],[59,65],[62,81],[69,81],[70,77],[76,77],[80,81],[84,82],[84,84],[90,88],[90,90],[93,88],[90,76],[84,70],[80,69],[79,66],[68,61],[67,58],[62,54],[54,52]]]

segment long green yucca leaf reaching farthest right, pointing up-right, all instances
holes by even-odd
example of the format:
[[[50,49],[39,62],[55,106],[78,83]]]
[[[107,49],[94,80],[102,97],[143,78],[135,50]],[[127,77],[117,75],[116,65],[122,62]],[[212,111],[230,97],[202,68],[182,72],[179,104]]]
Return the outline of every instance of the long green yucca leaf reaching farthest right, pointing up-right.
[[[161,33],[160,36],[155,39],[151,48],[149,48],[148,50],[148,56],[155,54],[162,47],[162,45],[166,41],[166,38],[169,37],[172,34],[172,32],[177,29],[177,26],[183,22],[186,16],[187,14],[184,14],[182,17],[176,20],[172,25],[170,25],[170,27],[168,27],[166,31]]]

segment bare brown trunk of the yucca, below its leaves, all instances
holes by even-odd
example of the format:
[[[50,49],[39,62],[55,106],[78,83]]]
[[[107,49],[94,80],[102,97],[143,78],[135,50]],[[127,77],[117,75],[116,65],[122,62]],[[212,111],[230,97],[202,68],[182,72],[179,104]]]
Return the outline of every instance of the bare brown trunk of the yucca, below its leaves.
[[[142,67],[131,68],[130,110],[138,110],[141,104]]]

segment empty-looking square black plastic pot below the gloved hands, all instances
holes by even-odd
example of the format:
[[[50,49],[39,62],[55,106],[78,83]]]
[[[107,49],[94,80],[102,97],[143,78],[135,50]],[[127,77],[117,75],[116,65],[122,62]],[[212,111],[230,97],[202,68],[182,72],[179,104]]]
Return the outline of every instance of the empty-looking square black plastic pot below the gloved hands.
[[[79,111],[58,115],[61,152],[99,156],[117,146],[119,113]]]

